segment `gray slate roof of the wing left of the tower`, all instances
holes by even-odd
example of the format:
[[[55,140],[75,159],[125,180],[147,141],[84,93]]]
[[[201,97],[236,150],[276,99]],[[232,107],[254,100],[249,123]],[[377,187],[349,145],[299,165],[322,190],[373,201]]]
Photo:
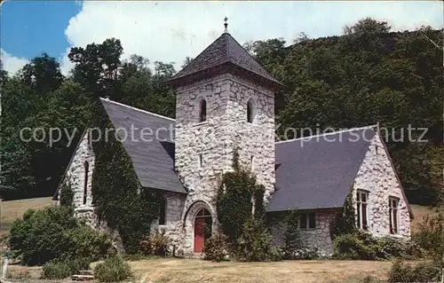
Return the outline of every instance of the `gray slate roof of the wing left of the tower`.
[[[174,119],[104,98],[100,99],[115,129],[123,128],[128,133],[128,138],[123,141],[123,146],[131,157],[140,184],[147,188],[186,193],[174,171]],[[133,138],[131,138],[131,124],[136,129],[133,130]],[[170,137],[170,127],[173,137]],[[140,131],[142,128],[153,131],[152,136],[147,135],[148,130],[144,131],[145,138],[153,138],[152,141],[141,140]],[[165,130],[159,130],[159,135],[156,138],[155,130],[160,128]]]

